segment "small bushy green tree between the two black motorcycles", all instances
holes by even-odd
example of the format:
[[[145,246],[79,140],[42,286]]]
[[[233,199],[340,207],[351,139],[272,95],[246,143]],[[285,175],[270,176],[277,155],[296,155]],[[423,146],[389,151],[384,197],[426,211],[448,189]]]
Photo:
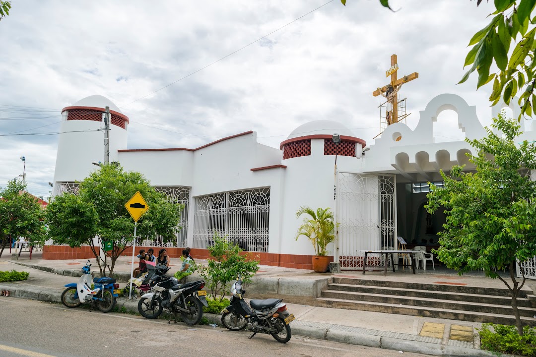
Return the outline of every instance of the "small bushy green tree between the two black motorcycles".
[[[195,264],[195,270],[206,280],[214,300],[220,295],[219,301],[224,299],[229,283],[240,276],[242,282],[247,284],[259,270],[259,262],[249,260],[242,254],[243,250],[227,237],[220,237],[214,232],[214,244],[209,247],[209,254],[213,259],[207,259],[207,265]]]

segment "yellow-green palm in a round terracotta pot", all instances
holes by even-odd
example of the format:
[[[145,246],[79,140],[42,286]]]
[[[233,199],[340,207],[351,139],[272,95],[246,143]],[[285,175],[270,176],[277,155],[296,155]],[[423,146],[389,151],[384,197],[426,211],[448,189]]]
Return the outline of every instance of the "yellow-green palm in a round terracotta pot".
[[[330,257],[327,256],[326,247],[334,239],[333,212],[330,208],[318,208],[316,212],[309,207],[300,207],[296,211],[296,218],[302,215],[303,222],[296,233],[295,239],[305,236],[315,248],[315,255],[312,257],[312,268],[316,272],[326,272],[330,264]]]

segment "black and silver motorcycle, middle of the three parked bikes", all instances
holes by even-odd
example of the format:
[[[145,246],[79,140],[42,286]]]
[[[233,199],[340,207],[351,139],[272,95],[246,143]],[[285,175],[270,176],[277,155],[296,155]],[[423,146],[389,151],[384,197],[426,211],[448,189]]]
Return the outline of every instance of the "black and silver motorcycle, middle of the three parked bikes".
[[[163,309],[170,314],[168,323],[172,317],[181,314],[182,321],[188,325],[195,325],[203,317],[203,306],[208,306],[206,302],[206,291],[204,280],[179,284],[175,277],[167,277],[165,273],[169,270],[165,265],[157,265],[155,282],[152,290],[146,293],[138,302],[138,312],[146,318],[157,318]]]

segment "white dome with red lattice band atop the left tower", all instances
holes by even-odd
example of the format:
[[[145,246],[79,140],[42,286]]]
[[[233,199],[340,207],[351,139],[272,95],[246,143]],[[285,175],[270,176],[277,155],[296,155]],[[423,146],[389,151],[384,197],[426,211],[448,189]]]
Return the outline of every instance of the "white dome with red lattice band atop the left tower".
[[[106,107],[110,108],[110,124],[126,130],[129,118],[121,112],[117,105],[102,95],[85,97],[70,107],[63,108],[62,113],[66,113],[66,120],[102,121],[102,113]]]

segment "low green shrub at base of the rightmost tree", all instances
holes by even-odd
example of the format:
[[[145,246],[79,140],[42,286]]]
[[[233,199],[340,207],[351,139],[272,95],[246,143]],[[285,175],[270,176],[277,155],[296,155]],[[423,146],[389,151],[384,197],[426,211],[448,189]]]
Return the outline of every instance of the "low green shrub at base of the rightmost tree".
[[[520,336],[516,326],[485,323],[479,334],[482,350],[536,356],[536,328],[523,326],[523,336]]]

